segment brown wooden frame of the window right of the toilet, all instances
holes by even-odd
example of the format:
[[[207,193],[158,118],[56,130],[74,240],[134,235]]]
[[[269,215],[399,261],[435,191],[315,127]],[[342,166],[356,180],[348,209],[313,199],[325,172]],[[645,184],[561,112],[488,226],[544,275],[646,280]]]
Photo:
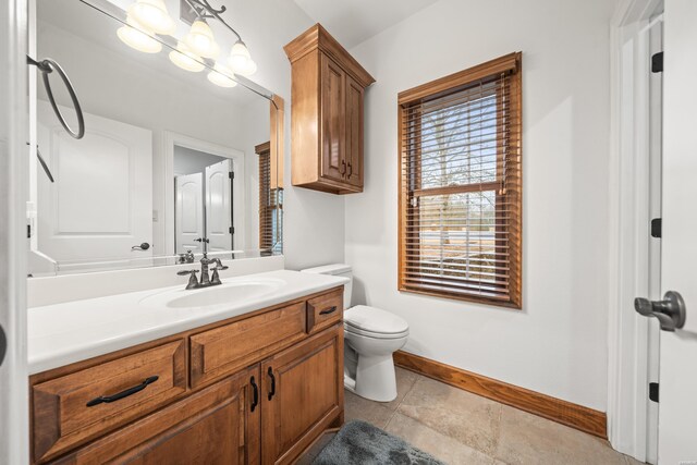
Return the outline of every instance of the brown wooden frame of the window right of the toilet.
[[[510,114],[512,122],[509,125],[504,125],[503,122],[497,122],[497,129],[510,127],[511,132],[516,132],[516,144],[510,145],[510,134],[504,139],[505,144],[509,144],[508,151],[497,149],[497,162],[501,166],[505,164],[506,160],[515,158],[517,160],[517,169],[512,170],[513,173],[503,169],[497,169],[496,181],[485,184],[462,184],[456,186],[444,186],[421,189],[420,188],[420,175],[412,176],[407,174],[406,166],[407,159],[414,154],[416,157],[420,156],[420,143],[417,143],[417,147],[414,147],[414,143],[411,143],[407,147],[405,143],[405,131],[403,127],[403,121],[406,112],[420,109],[418,106],[420,102],[431,100],[440,96],[447,96],[458,89],[466,88],[477,83],[493,81],[500,75],[506,75],[509,77],[509,90],[510,101],[506,102],[511,107]],[[497,87],[499,89],[499,87]],[[500,96],[497,98],[497,106],[502,105]],[[499,118],[503,112],[498,111]],[[509,113],[506,113],[509,114]],[[417,117],[419,118],[419,117]],[[418,120],[420,122],[420,120]],[[420,127],[412,130],[413,134],[420,134]],[[452,298],[457,301],[475,302],[479,304],[494,305],[499,307],[508,307],[513,309],[521,309],[523,295],[522,295],[522,227],[523,227],[523,168],[522,168],[522,53],[515,52],[504,57],[488,61],[480,65],[461,71],[458,73],[451,74],[449,76],[432,81],[430,83],[417,86],[409,90],[405,90],[399,94],[398,97],[398,198],[399,198],[399,219],[398,219],[398,289],[401,292],[424,294],[437,297]],[[497,147],[501,144],[501,139],[497,137]],[[501,157],[501,159],[499,159]],[[420,169],[420,163],[416,164]],[[414,178],[414,179],[413,179]],[[511,182],[516,185],[517,188],[502,191],[500,187],[503,183]],[[491,188],[488,188],[491,187]],[[512,213],[513,219],[509,219],[505,225],[500,223],[501,217],[496,215],[494,225],[494,246],[501,246],[505,244],[509,246],[509,277],[502,281],[502,284],[508,286],[509,292],[504,298],[492,297],[487,295],[477,295],[475,293],[454,293],[448,291],[436,290],[423,290],[409,286],[406,283],[406,254],[407,243],[409,237],[413,241],[415,235],[409,235],[409,231],[418,231],[417,227],[414,227],[414,222],[418,221],[418,216],[413,215],[416,206],[409,205],[409,196],[425,196],[425,195],[447,195],[447,194],[461,194],[467,192],[490,192],[496,193],[496,211],[500,211],[501,206],[513,205],[515,210]],[[506,238],[508,236],[508,238]]]

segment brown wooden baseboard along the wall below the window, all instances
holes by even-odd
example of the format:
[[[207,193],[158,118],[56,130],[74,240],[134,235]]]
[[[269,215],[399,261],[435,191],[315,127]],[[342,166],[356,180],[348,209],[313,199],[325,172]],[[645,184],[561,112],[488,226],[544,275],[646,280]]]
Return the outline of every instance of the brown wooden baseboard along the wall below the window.
[[[408,352],[394,353],[395,365],[455,388],[551,419],[599,438],[608,438],[603,412],[469,372]]]

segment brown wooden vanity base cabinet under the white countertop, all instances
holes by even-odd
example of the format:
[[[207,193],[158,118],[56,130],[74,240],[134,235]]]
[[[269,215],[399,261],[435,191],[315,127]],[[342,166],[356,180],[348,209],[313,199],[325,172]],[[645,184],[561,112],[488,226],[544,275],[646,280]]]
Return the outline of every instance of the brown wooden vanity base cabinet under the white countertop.
[[[342,309],[335,287],[35,375],[32,462],[293,463],[343,424]]]

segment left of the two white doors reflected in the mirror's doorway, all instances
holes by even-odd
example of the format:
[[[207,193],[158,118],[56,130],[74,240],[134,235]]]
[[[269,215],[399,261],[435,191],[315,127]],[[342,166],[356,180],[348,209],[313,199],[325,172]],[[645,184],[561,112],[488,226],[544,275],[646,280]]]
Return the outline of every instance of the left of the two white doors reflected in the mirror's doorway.
[[[176,253],[200,253],[204,237],[204,174],[182,174],[174,179],[174,183]]]

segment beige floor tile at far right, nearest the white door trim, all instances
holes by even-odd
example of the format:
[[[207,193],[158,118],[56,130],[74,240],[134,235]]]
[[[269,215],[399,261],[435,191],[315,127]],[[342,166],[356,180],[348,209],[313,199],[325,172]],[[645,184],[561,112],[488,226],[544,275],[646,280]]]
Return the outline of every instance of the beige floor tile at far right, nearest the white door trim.
[[[626,465],[608,441],[505,405],[494,456],[508,464]]]

